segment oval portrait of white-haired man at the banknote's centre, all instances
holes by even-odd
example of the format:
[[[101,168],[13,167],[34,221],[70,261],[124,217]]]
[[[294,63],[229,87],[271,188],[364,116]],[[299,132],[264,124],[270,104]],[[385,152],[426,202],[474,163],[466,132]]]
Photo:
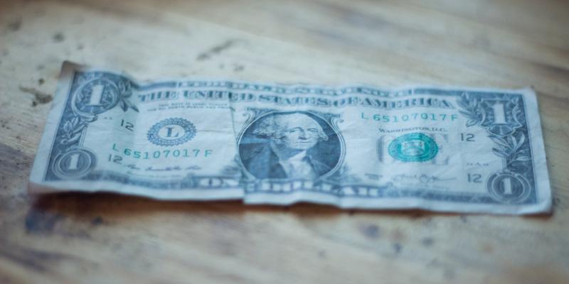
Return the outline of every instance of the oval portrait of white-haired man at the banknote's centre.
[[[308,111],[273,112],[245,130],[239,154],[245,169],[260,179],[315,179],[339,162],[338,135]]]

